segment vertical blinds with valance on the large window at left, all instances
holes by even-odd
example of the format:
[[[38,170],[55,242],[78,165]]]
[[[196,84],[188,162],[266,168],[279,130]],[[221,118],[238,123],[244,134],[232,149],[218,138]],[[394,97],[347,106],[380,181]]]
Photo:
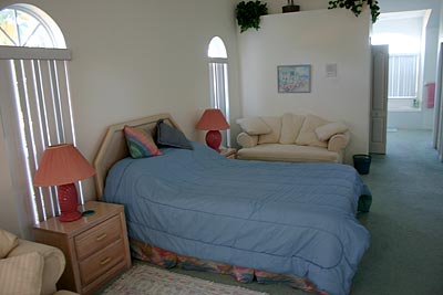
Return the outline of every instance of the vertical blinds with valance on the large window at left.
[[[69,60],[70,50],[0,48],[0,109],[9,165],[14,189],[27,188],[19,198],[29,201],[34,222],[60,211],[53,187],[32,186],[44,149],[61,143],[75,144]]]

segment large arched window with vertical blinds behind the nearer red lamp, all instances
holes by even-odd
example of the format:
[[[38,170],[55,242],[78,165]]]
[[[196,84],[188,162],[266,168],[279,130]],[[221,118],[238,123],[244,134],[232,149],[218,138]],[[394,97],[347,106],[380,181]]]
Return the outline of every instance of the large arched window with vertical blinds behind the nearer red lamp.
[[[63,34],[45,12],[30,4],[0,10],[1,123],[12,191],[30,207],[31,224],[60,212],[55,188],[32,185],[43,151],[50,145],[75,145],[69,60]]]

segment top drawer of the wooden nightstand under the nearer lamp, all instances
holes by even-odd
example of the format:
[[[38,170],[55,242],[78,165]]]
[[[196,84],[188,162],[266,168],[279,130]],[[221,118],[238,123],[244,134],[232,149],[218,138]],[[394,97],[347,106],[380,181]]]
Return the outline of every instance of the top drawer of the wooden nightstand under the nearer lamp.
[[[75,236],[76,255],[80,261],[104,249],[121,238],[120,218],[113,217],[102,224]]]

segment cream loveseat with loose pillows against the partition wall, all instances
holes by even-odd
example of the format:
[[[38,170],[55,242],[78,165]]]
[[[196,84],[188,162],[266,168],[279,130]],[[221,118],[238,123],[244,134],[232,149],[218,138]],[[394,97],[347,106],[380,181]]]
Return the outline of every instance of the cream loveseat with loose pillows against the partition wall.
[[[241,118],[243,148],[237,159],[267,161],[342,162],[350,140],[348,127],[315,115]]]

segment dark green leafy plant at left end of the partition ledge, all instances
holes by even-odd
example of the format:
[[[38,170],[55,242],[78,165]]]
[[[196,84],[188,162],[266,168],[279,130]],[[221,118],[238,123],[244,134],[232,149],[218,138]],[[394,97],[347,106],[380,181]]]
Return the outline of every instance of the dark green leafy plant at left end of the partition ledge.
[[[260,1],[241,1],[236,8],[237,23],[240,27],[240,32],[245,32],[249,28],[258,30],[260,28],[260,17],[268,14],[266,3]]]

